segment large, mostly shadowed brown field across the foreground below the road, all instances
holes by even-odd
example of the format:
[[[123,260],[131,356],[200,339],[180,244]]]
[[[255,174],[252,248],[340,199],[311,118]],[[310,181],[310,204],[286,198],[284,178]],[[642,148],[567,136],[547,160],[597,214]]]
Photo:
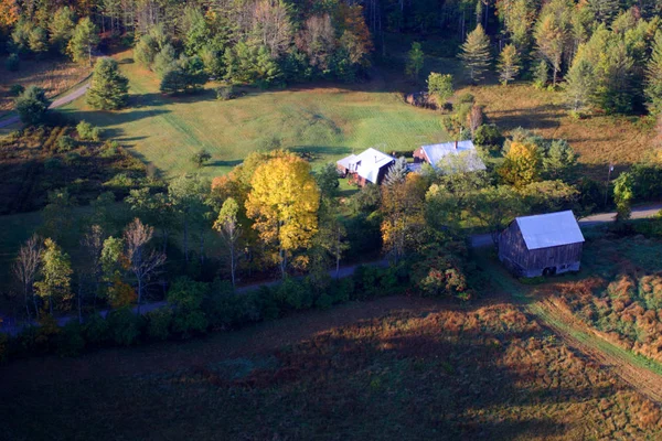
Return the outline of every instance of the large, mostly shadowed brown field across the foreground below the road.
[[[655,405],[499,301],[386,298],[0,375],[13,440],[662,435]]]

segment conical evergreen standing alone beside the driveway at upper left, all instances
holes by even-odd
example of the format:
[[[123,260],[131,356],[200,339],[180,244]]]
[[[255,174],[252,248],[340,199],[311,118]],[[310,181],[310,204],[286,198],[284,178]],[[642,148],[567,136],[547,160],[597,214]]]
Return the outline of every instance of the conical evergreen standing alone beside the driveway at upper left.
[[[117,62],[99,58],[94,66],[87,104],[95,109],[117,110],[126,106],[128,92],[129,80],[119,72]]]

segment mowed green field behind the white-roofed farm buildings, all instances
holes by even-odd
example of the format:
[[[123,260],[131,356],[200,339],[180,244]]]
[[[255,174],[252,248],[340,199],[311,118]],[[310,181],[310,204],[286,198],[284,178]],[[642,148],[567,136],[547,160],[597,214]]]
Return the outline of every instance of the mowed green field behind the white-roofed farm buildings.
[[[401,94],[381,90],[378,80],[250,89],[229,101],[216,100],[213,85],[207,85],[200,94],[171,97],[159,93],[159,78],[131,56],[131,52],[116,56],[130,80],[127,109],[94,111],[82,98],[63,110],[102,127],[166,176],[218,175],[250,152],[278,144],[311,153],[313,163],[320,164],[369,147],[410,152],[449,139],[437,112],[406,105]],[[201,149],[213,158],[197,170],[191,157]]]

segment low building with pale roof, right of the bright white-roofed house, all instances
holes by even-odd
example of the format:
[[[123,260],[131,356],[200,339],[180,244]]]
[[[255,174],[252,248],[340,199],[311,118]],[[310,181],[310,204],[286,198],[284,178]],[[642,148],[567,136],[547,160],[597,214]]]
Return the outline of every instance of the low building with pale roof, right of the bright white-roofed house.
[[[427,162],[435,170],[444,168],[450,173],[460,171],[455,169],[468,172],[485,170],[471,140],[421,146],[414,151],[414,162]]]

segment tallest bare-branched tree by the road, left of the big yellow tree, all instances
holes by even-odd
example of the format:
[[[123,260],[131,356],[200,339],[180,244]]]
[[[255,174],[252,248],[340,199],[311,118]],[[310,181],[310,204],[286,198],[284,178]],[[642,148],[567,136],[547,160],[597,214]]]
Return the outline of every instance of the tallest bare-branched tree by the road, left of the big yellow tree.
[[[149,225],[143,225],[139,218],[134,219],[124,234],[129,270],[134,273],[138,283],[138,313],[140,313],[146,283],[166,262],[163,252],[148,249],[148,244],[153,235],[154,229]]]

